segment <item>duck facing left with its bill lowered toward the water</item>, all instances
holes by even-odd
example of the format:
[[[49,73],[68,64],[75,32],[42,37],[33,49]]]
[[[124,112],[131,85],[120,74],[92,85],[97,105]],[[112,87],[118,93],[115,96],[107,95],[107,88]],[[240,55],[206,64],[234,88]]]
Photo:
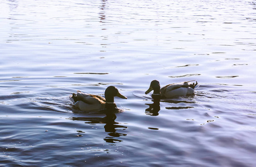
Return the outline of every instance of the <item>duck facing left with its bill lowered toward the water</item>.
[[[145,92],[145,94],[148,94],[149,92],[153,91],[153,99],[165,99],[176,96],[192,95],[195,93],[195,89],[199,87],[197,81],[196,83],[189,84],[192,81],[168,84],[160,89],[160,82],[157,80],[153,80],[151,81],[149,89]]]

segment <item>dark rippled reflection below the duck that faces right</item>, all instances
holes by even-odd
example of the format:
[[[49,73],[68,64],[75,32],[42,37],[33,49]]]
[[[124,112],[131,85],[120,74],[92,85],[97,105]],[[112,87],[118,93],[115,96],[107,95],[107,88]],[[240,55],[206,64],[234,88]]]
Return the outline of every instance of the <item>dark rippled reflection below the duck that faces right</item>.
[[[118,132],[119,130],[127,129],[127,126],[119,125],[119,122],[115,122],[117,116],[115,113],[120,112],[120,109],[112,109],[109,111],[108,109],[103,109],[101,112],[105,113],[105,117],[73,117],[72,120],[85,121],[85,124],[105,124],[104,129],[105,132],[109,132],[108,135],[104,138],[107,143],[118,143],[123,140],[116,139],[116,137],[126,136],[127,134],[123,134]]]

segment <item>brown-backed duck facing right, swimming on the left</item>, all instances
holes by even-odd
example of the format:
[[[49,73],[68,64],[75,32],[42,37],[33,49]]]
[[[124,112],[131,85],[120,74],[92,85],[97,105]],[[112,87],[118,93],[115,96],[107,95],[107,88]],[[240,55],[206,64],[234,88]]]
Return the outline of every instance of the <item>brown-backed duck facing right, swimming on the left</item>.
[[[69,96],[69,99],[74,103],[74,106],[81,111],[93,111],[102,109],[115,109],[117,105],[114,102],[114,97],[120,97],[127,99],[119,93],[115,86],[109,86],[105,90],[105,98],[98,95],[85,94],[81,91],[77,91]]]

